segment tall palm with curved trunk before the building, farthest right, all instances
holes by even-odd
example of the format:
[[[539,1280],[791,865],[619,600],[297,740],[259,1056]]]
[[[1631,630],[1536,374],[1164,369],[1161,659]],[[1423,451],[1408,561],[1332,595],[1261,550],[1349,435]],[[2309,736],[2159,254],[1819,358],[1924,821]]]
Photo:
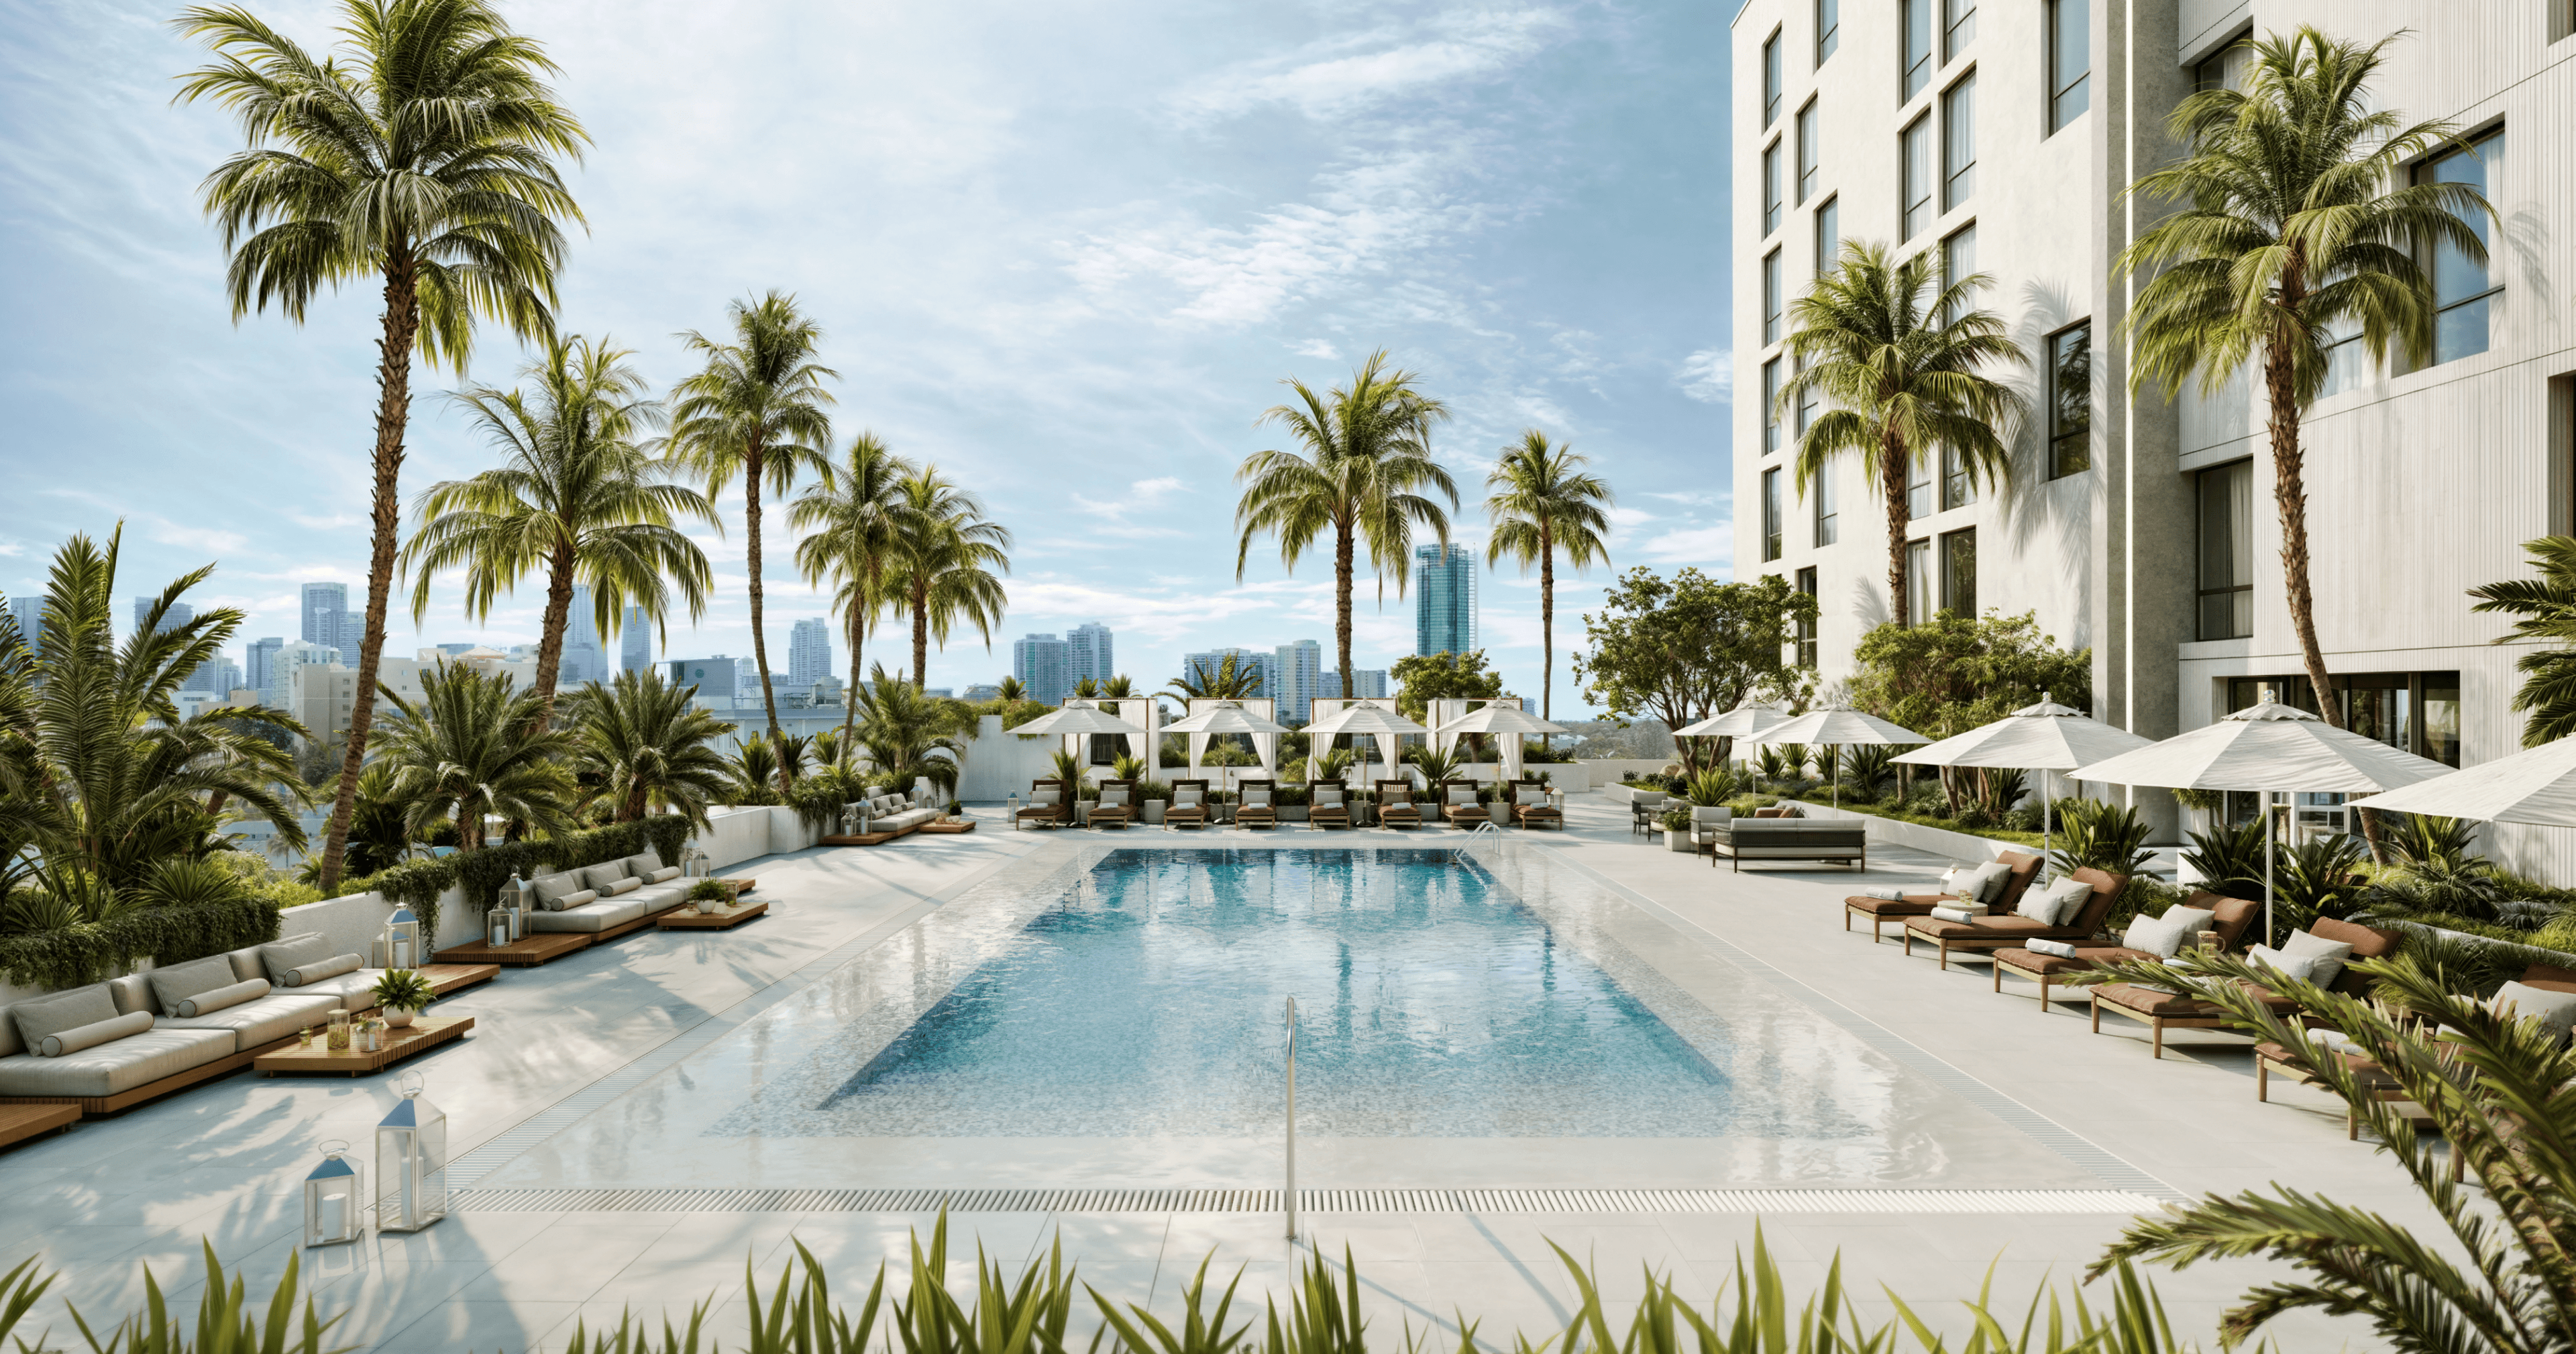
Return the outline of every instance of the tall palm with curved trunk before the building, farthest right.
[[[2458,250],[2486,263],[2494,209],[2465,183],[2406,183],[2450,124],[2406,124],[2375,108],[2380,51],[2300,26],[2251,44],[2244,90],[2205,90],[2166,118],[2182,160],[2130,185],[2190,203],[2120,252],[2148,275],[2128,319],[2130,394],[2197,381],[2215,394],[2254,366],[2269,404],[2272,505],[2280,512],[2282,600],[2326,723],[2342,728],[2308,582],[2308,489],[2300,414],[2326,389],[2326,335],[2360,327],[2378,363],[2432,360],[2432,278],[2419,263]],[[2478,219],[2476,224],[2470,219]],[[2362,826],[2372,831],[2375,816]]]

